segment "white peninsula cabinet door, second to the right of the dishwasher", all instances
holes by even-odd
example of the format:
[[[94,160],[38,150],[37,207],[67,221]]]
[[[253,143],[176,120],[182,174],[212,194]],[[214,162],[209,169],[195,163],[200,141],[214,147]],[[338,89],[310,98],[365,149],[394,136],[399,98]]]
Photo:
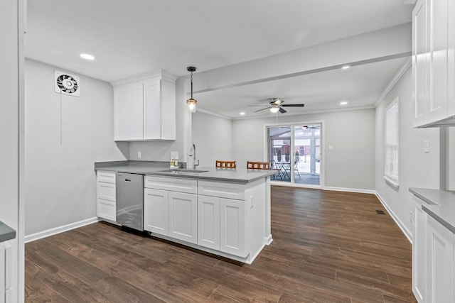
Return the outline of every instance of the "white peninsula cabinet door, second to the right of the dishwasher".
[[[168,236],[198,243],[198,196],[183,192],[168,192]]]

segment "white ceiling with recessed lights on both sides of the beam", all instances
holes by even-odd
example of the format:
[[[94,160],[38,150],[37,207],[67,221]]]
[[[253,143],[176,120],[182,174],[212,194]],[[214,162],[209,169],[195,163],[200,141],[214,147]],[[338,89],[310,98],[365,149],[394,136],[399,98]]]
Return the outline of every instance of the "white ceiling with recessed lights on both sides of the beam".
[[[28,0],[25,55],[107,82],[155,70],[187,76],[411,21],[402,0]],[[83,60],[90,53],[94,61]],[[223,116],[281,97],[287,114],[372,106],[404,59],[200,93]],[[215,101],[214,101],[215,100]]]

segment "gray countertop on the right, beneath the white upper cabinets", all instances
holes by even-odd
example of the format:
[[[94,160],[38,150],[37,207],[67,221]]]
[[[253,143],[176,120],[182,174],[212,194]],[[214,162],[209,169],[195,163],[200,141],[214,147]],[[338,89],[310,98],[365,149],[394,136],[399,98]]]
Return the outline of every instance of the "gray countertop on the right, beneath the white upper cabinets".
[[[427,214],[455,233],[454,191],[410,187],[410,192],[427,203],[422,204]]]

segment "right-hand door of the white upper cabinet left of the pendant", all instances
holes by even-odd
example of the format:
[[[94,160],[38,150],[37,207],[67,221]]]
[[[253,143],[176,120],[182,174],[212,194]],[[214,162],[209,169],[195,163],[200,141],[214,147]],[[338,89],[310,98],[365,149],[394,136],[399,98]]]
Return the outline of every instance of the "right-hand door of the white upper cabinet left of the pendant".
[[[144,81],[144,140],[161,139],[161,80]]]

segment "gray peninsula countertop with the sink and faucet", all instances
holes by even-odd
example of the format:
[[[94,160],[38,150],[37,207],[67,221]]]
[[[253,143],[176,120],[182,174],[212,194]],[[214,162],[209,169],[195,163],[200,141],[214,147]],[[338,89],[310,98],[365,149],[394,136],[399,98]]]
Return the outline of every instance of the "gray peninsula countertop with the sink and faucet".
[[[112,163],[112,165],[108,165]],[[248,170],[247,168],[216,168],[198,167],[206,172],[163,172],[169,167],[164,167],[162,162],[122,161],[122,162],[96,162],[95,170],[110,172],[127,172],[132,174],[155,175],[163,177],[182,177],[196,180],[223,181],[232,183],[248,183],[273,175],[272,170]]]

